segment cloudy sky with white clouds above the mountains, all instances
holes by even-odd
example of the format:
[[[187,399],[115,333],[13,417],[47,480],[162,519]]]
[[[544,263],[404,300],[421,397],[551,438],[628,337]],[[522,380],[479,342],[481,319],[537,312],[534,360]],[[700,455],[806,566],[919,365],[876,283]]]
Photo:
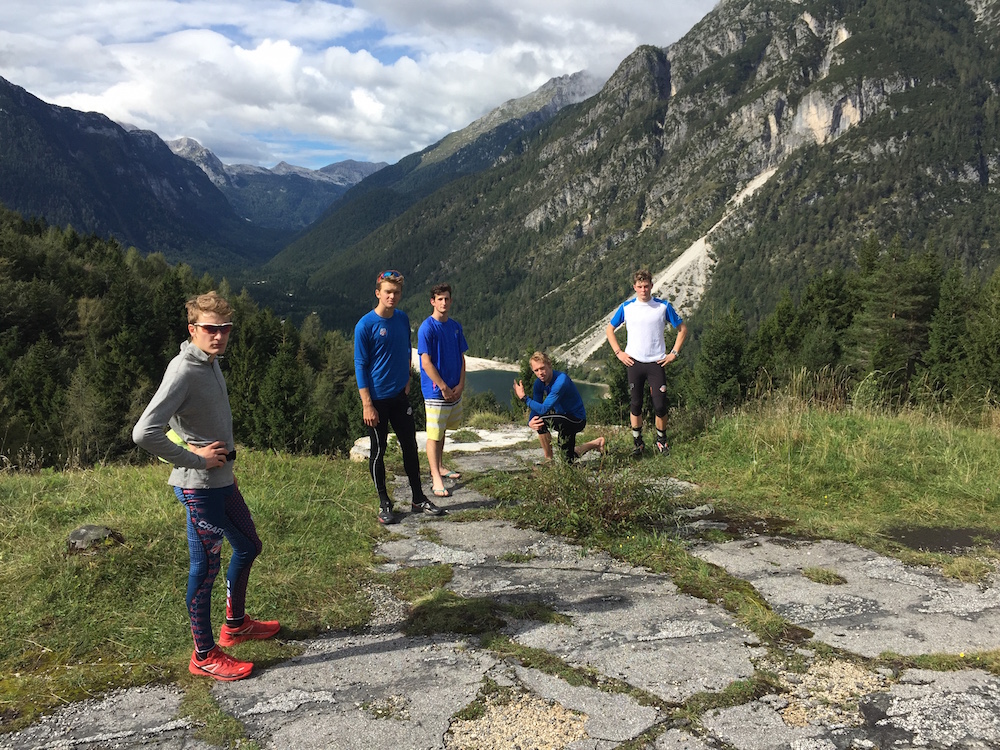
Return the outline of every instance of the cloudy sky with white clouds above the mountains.
[[[609,76],[716,0],[8,2],[0,76],[227,163],[396,162],[554,76]]]

